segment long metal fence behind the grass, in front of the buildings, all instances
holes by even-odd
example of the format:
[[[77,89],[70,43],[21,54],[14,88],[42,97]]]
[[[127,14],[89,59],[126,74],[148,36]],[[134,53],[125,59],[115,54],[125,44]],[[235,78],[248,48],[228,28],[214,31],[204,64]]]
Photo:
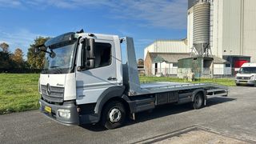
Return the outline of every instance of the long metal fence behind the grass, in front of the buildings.
[[[230,67],[203,69],[202,71],[193,71],[190,68],[156,68],[144,69],[146,76],[157,77],[178,77],[185,78],[193,75],[195,78],[234,78],[237,70]]]

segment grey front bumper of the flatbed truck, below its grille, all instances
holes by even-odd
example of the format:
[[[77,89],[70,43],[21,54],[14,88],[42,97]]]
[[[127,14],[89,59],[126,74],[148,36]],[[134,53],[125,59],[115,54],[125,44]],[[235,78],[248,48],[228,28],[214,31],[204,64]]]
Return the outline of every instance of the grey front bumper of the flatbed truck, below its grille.
[[[74,102],[64,102],[63,105],[53,105],[39,100],[40,103],[40,111],[45,114],[47,117],[56,120],[57,122],[61,122],[64,125],[78,125],[79,124],[79,116],[77,111],[77,106],[74,105]],[[51,112],[47,112],[45,107],[48,106],[51,109]],[[70,118],[62,118],[58,114],[58,110],[70,110]]]

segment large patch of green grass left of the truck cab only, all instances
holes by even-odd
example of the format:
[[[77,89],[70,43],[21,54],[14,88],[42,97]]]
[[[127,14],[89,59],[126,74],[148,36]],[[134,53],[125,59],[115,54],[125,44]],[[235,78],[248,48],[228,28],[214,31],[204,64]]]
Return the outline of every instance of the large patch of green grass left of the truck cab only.
[[[0,74],[0,114],[38,109],[39,74]]]

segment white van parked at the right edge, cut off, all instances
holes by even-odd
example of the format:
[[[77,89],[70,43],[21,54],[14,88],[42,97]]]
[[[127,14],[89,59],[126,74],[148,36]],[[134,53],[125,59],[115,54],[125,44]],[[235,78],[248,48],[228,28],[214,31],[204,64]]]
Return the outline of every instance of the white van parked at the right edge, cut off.
[[[237,86],[242,84],[256,86],[256,63],[246,62],[242,64],[235,77]]]

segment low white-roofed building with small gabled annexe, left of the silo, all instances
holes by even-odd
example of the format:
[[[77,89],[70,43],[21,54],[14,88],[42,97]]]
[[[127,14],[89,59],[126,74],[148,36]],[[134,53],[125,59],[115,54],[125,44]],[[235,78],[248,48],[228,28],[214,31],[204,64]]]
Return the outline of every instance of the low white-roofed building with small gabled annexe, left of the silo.
[[[157,40],[144,49],[145,74],[177,74],[178,59],[190,57],[187,40]]]

